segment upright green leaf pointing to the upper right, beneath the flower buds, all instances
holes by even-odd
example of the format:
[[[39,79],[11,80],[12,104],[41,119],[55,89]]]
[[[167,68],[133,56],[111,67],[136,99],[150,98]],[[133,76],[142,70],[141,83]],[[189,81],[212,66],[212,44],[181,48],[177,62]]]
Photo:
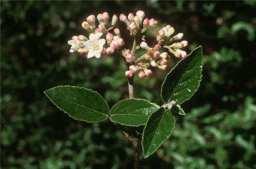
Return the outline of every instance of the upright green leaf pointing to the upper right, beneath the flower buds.
[[[187,101],[197,91],[203,67],[202,47],[197,47],[166,75],[162,84],[163,102],[175,101],[176,104]]]

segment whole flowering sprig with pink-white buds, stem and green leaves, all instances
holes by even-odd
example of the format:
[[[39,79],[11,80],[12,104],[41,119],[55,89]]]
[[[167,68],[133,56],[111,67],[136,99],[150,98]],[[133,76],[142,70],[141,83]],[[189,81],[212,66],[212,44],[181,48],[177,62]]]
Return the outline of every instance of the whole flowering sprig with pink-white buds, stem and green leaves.
[[[114,28],[118,20],[117,15],[113,15],[110,22],[109,14],[106,12],[97,15],[98,28],[96,28],[94,15],[88,16],[87,21],[82,23],[82,27],[90,34],[89,38],[79,35],[73,36],[72,40],[68,41],[71,45],[70,52],[77,51],[87,55],[87,58],[93,56],[100,58],[101,55],[108,54],[123,59],[128,69],[125,76],[128,78],[129,99],[118,102],[109,110],[108,104],[101,95],[90,89],[58,86],[45,91],[59,109],[75,119],[87,122],[101,122],[109,119],[114,123],[133,143],[136,168],[139,168],[138,140],[142,138],[142,149],[146,158],[172,134],[175,125],[173,113],[185,115],[180,105],[197,91],[201,81],[203,62],[202,48],[197,47],[187,56],[181,48],[186,47],[188,42],[185,40],[177,42],[182,39],[183,34],[173,36],[174,28],[170,25],[159,30],[159,35],[156,37],[157,44],[149,47],[144,42],[143,33],[155,27],[158,22],[155,19],[144,19],[144,16],[144,11],[138,11],[136,16],[129,13],[128,18],[124,14],[119,17],[126,24],[130,36],[134,38],[131,49],[123,48],[125,42],[121,38],[120,30]],[[110,33],[113,28],[114,35]],[[146,52],[139,58],[135,58],[135,52],[139,48]],[[169,50],[172,55],[160,52],[161,48]],[[163,105],[158,106],[144,99],[133,98],[133,77],[136,72],[138,71],[139,78],[144,78],[152,74],[150,67],[165,70],[167,60],[173,56],[181,60],[167,74],[162,84]],[[132,132],[124,126],[133,126]],[[140,130],[141,126],[143,131]]]

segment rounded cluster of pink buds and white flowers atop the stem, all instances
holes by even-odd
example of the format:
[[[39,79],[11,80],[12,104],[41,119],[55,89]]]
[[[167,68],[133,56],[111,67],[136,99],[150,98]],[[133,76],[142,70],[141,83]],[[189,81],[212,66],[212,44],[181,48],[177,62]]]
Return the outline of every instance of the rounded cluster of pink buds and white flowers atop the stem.
[[[114,54],[123,59],[128,66],[128,71],[125,72],[125,76],[131,78],[138,72],[139,78],[144,78],[152,74],[149,67],[157,67],[161,70],[167,68],[167,60],[170,56],[167,52],[160,52],[161,48],[167,48],[171,54],[177,58],[184,58],[187,53],[181,48],[186,47],[188,42],[183,40],[177,42],[183,38],[183,33],[179,33],[175,36],[174,28],[171,25],[166,25],[159,30],[159,35],[156,37],[157,44],[154,47],[149,47],[145,42],[145,36],[143,33],[158,24],[155,19],[145,18],[144,11],[137,11],[134,16],[133,13],[129,13],[128,16],[121,14],[119,19],[127,25],[127,29],[130,32],[130,36],[134,37],[134,43],[132,50],[123,48],[124,39],[121,38],[120,30],[114,28],[118,17],[113,15],[110,22],[109,14],[107,12],[99,13],[97,15],[98,27],[96,27],[94,15],[90,15],[83,21],[82,27],[89,32],[90,36],[87,38],[84,35],[73,36],[72,40],[68,41],[71,45],[70,52],[79,52],[80,54],[87,55],[87,58],[95,56],[100,58],[104,54]],[[113,32],[110,31],[113,29]],[[139,42],[139,40],[142,42]],[[137,46],[137,44],[140,44]],[[139,48],[146,50],[146,53],[139,58],[135,57],[135,52]],[[161,50],[162,51],[162,50]]]

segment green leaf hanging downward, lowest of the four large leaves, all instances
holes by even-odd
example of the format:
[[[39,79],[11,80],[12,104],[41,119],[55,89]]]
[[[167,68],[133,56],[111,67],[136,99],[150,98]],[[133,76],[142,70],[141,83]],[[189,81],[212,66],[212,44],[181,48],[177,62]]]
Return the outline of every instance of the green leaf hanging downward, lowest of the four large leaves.
[[[145,158],[153,154],[172,134],[174,125],[174,116],[168,109],[161,107],[151,114],[142,136],[142,149]]]

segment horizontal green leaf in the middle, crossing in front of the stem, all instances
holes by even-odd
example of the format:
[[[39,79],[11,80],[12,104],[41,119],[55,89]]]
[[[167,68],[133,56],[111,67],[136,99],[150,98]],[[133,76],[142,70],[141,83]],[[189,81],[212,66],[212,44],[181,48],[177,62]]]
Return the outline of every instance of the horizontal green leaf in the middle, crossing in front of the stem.
[[[125,99],[114,105],[110,111],[114,122],[127,126],[145,125],[148,117],[159,106],[144,99]]]

